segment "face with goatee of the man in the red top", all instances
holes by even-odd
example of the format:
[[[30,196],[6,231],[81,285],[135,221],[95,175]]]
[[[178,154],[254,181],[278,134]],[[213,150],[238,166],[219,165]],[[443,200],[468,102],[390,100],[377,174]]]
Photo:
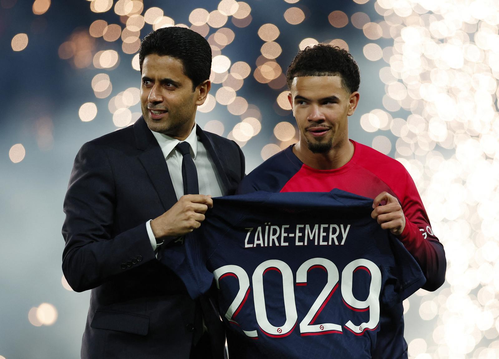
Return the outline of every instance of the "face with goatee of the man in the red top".
[[[359,93],[349,93],[340,76],[295,77],[288,95],[300,130],[300,143],[313,153],[326,153],[348,143],[348,116]]]

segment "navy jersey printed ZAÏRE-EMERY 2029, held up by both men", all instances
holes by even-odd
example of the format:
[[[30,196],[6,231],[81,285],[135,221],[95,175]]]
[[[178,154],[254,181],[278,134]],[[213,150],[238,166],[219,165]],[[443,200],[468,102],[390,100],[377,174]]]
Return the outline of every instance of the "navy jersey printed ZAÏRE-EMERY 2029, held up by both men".
[[[380,303],[425,283],[411,254],[340,190],[214,199],[161,260],[191,296],[213,279],[231,358],[371,358]]]

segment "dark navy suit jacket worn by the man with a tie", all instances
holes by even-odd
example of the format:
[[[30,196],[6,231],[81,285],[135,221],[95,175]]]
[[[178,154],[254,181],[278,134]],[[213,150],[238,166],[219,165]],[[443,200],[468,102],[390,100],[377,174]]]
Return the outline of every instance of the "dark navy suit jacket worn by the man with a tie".
[[[241,149],[199,126],[196,133],[223,193],[233,194],[245,172]],[[146,231],[148,220],[176,202],[163,152],[142,117],[85,143],[76,155],[64,200],[62,270],[75,291],[92,290],[81,358],[189,358],[203,333],[196,302],[156,259]],[[223,358],[219,314],[206,298],[203,311],[213,358]]]

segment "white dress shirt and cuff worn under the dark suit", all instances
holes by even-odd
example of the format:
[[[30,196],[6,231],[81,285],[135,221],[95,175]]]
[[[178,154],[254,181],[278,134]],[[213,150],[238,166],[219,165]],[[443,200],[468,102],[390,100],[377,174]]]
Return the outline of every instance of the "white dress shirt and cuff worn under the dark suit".
[[[179,200],[180,197],[184,195],[184,185],[182,181],[182,154],[175,148],[175,146],[182,141],[163,133],[154,131],[151,132],[163,151],[166,164],[168,165],[168,172],[170,172],[173,188],[175,189],[177,200]],[[206,151],[203,142],[201,142],[196,135],[196,123],[194,123],[191,133],[187,136],[184,142],[189,143],[189,146],[191,147],[191,156],[198,172],[199,193],[202,195],[211,195],[212,197],[222,196],[222,181],[211,156]],[[156,250],[158,244],[156,244],[156,239],[151,229],[151,221],[152,220],[147,221],[146,229],[153,250]]]

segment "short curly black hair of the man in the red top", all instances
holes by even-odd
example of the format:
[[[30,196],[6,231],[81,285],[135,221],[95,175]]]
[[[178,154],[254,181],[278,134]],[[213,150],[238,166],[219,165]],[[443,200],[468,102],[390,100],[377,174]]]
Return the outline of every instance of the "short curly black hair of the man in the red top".
[[[350,93],[358,91],[359,67],[352,55],[338,46],[317,44],[298,52],[287,68],[287,86],[300,76],[341,76],[343,87]]]

